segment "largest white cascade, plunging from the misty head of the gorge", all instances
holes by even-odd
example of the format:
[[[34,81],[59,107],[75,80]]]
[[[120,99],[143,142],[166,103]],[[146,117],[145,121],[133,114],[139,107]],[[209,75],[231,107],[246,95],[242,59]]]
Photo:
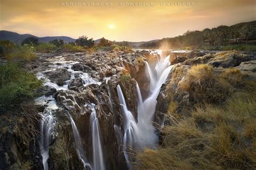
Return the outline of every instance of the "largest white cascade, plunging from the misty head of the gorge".
[[[138,103],[138,143],[140,146],[155,146],[158,142],[158,135],[152,121],[156,110],[157,96],[160,92],[161,85],[166,81],[172,66],[170,66],[170,56],[166,58],[161,55],[157,61],[156,67],[152,69],[149,63],[145,62],[147,75],[150,79],[150,95],[142,102],[139,86],[137,93],[139,98]]]

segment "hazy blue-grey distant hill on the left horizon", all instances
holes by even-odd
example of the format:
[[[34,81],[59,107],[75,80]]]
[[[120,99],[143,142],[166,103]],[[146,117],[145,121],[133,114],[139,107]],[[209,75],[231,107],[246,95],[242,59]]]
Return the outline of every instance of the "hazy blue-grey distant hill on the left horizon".
[[[56,37],[37,37],[33,36],[31,34],[18,34],[16,32],[11,32],[11,31],[0,31],[0,40],[9,40],[11,42],[15,42],[16,44],[22,44],[22,41],[25,38],[28,37],[36,37],[38,38],[39,42],[49,42],[54,39],[63,39],[64,42],[74,42],[76,39],[66,37],[66,36],[56,36]]]

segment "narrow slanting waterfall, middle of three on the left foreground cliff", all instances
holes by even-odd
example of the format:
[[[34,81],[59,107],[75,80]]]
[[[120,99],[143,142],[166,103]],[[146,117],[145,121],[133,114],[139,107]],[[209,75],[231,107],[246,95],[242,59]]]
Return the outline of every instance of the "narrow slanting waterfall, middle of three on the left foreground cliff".
[[[84,147],[83,147],[83,144],[81,141],[80,134],[79,134],[77,126],[76,126],[75,122],[73,121],[73,118],[71,117],[70,114],[69,114],[69,117],[70,117],[72,129],[73,129],[73,135],[74,135],[74,139],[75,139],[75,143],[76,143],[76,151],[77,151],[78,158],[80,160],[82,160],[84,168],[87,169],[87,167],[90,167],[90,164],[88,163],[88,161],[85,157]],[[91,169],[91,167],[90,167],[90,169]]]

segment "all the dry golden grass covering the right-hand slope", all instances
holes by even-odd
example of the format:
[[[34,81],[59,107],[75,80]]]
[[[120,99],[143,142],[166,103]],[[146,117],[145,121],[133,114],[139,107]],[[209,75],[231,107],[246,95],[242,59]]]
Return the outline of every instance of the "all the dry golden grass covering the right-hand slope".
[[[161,146],[139,151],[134,155],[133,168],[255,169],[256,82],[246,80],[237,69],[226,69],[216,76],[207,65],[192,67],[186,76],[182,85],[190,95],[204,101],[208,95],[221,92],[216,88],[223,88],[223,103],[201,102],[190,116],[166,125],[161,130]],[[225,93],[227,87],[229,93]],[[171,111],[174,102],[169,105]]]

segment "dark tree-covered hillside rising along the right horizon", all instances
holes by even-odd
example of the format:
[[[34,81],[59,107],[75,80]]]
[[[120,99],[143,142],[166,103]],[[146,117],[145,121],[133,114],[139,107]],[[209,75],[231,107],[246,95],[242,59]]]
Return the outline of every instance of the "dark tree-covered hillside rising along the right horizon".
[[[170,48],[226,46],[231,39],[242,39],[246,44],[249,40],[256,40],[256,21],[232,26],[221,25],[213,29],[204,29],[203,31],[187,31],[182,36],[146,42],[140,47],[158,48],[163,44]]]

